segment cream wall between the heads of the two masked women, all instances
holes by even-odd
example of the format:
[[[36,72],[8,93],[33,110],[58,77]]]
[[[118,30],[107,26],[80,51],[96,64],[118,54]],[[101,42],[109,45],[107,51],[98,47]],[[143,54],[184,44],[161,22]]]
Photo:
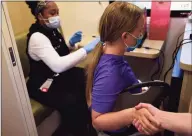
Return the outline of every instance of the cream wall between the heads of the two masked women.
[[[65,39],[76,31],[98,35],[99,19],[109,2],[57,2]]]

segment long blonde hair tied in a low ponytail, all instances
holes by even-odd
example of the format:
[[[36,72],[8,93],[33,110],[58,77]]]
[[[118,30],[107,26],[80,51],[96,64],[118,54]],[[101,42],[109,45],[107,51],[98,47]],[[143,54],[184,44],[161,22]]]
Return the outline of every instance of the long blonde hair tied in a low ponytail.
[[[143,10],[128,2],[113,2],[107,6],[99,22],[99,34],[102,42],[114,42],[123,32],[132,32]],[[87,69],[86,99],[91,104],[94,71],[103,52],[102,42],[93,50],[92,60]]]

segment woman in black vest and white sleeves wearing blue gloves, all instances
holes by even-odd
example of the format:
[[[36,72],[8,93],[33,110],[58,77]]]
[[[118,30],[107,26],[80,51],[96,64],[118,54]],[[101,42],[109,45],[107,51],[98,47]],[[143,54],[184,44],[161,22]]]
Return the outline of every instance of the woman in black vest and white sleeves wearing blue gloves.
[[[75,43],[81,41],[82,32],[76,32],[66,43],[57,29],[60,27],[60,18],[56,3],[26,3],[36,18],[27,35],[29,95],[60,112],[62,123],[54,135],[90,136],[87,130],[90,115],[85,98],[85,74],[83,69],[74,66],[94,49],[100,39],[70,53]]]

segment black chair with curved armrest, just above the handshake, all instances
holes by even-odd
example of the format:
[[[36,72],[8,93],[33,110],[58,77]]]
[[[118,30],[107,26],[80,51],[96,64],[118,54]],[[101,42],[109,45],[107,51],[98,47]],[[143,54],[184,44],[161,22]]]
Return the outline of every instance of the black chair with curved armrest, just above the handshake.
[[[149,89],[142,93],[131,94],[130,90],[142,87],[149,87]],[[170,105],[170,96],[171,96],[170,85],[163,81],[149,81],[142,82],[135,85],[132,85],[125,90],[123,90],[119,97],[116,100],[114,111],[120,111],[126,108],[131,108],[139,104],[150,103],[155,107],[159,108],[162,105],[163,110],[170,111],[172,109]],[[121,135],[121,134],[119,134]],[[165,130],[164,136],[173,136],[174,133]]]

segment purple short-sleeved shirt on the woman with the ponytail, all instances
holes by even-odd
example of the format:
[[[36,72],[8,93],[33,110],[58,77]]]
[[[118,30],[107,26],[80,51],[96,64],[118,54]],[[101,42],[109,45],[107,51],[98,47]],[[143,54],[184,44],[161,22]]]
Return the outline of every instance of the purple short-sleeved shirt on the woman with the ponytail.
[[[92,109],[99,113],[111,112],[119,93],[137,83],[138,80],[128,64],[120,67],[100,67],[94,75]],[[130,92],[139,93],[141,89],[130,90]]]

